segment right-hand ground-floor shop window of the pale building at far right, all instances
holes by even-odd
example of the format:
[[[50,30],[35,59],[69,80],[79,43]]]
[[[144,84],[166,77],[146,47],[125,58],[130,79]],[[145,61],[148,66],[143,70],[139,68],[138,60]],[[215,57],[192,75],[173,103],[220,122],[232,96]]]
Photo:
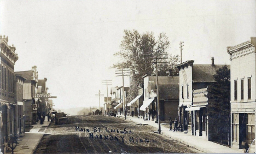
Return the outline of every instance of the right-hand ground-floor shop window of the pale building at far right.
[[[255,125],[254,125],[254,114],[247,114],[247,142],[252,144],[255,138]]]

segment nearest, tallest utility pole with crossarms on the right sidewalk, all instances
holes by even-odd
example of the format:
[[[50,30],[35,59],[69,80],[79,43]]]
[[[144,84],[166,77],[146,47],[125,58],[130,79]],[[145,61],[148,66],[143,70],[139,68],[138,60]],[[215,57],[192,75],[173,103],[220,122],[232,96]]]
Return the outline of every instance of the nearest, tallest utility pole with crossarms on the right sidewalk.
[[[159,84],[158,84],[158,63],[167,63],[167,62],[163,62],[161,60],[166,60],[168,59],[166,56],[167,54],[150,54],[148,56],[153,56],[153,60],[155,64],[155,74],[156,74],[156,97],[158,99],[158,134],[161,133],[161,125],[160,125],[160,102],[159,102]],[[159,62],[160,60],[160,62]]]

